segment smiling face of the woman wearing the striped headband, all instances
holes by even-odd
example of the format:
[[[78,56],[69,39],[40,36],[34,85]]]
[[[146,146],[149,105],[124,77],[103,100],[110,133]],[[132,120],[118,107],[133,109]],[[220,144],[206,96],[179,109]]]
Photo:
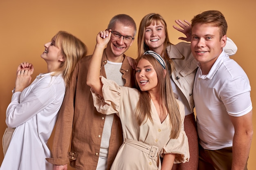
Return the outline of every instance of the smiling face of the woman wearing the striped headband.
[[[141,91],[153,93],[157,91],[157,73],[148,60],[139,60],[136,68],[136,80]]]

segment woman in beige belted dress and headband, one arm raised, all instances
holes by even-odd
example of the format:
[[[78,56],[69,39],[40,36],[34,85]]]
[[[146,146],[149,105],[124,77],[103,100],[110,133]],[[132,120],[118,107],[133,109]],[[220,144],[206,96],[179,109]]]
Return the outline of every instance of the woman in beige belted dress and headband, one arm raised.
[[[174,162],[188,161],[184,105],[173,95],[168,68],[159,54],[147,51],[140,57],[135,69],[137,88],[118,86],[99,76],[110,31],[97,35],[87,84],[92,87],[98,112],[117,114],[121,119],[124,143],[111,170],[170,170]],[[124,38],[129,37],[122,35],[119,41]],[[160,155],[164,158],[162,165]]]

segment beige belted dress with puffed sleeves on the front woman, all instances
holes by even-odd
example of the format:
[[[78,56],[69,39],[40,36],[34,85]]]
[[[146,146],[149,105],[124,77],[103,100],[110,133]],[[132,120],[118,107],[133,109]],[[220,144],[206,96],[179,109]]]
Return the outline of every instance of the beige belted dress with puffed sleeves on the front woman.
[[[135,108],[139,91],[135,88],[118,86],[115,82],[101,77],[103,98],[94,93],[94,106],[99,113],[116,113],[122,123],[124,143],[120,147],[111,170],[160,170],[159,156],[176,154],[175,163],[189,161],[189,144],[184,132],[184,105],[177,100],[182,118],[182,130],[177,139],[170,139],[169,117],[161,123],[151,100],[153,124],[148,119],[138,126]]]

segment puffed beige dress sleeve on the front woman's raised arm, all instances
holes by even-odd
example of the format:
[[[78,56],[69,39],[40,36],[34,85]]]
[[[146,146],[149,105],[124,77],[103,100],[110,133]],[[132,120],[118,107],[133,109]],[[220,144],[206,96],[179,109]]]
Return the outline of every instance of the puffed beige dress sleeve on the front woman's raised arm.
[[[117,113],[119,116],[119,105],[121,98],[121,87],[114,81],[100,76],[103,84],[103,97],[95,93],[91,88],[93,104],[99,113],[110,115]]]

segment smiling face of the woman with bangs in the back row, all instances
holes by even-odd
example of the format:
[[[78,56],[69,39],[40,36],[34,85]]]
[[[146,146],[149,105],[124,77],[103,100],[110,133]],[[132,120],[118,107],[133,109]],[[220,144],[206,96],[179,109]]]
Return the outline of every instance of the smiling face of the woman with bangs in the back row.
[[[149,47],[150,50],[155,51],[161,55],[164,49],[164,41],[166,39],[166,31],[164,25],[159,22],[150,24],[145,28],[144,43]]]

